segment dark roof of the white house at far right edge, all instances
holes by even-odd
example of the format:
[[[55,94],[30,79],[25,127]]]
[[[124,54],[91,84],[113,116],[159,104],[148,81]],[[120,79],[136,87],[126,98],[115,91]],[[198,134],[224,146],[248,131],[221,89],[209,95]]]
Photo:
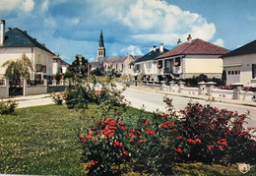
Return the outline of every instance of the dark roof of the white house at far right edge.
[[[238,47],[237,49],[234,49],[224,54],[222,57],[230,57],[230,56],[238,56],[238,55],[254,54],[254,53],[256,53],[256,40],[251,41],[241,47]]]

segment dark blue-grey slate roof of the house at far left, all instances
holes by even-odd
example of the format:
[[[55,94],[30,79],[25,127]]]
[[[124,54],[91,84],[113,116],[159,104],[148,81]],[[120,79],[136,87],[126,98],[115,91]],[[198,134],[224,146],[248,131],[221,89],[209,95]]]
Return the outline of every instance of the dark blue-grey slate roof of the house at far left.
[[[32,38],[32,36],[30,36],[26,31],[18,28],[10,29],[5,32],[4,44],[1,47],[38,47],[44,51],[54,54]]]

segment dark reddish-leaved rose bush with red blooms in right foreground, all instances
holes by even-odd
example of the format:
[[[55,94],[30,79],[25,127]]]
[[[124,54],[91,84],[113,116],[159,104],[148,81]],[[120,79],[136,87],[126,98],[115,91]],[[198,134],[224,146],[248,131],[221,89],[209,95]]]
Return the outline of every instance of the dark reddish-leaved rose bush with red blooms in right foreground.
[[[191,102],[180,112],[177,129],[185,152],[181,160],[255,163],[254,130],[243,127],[246,114]]]

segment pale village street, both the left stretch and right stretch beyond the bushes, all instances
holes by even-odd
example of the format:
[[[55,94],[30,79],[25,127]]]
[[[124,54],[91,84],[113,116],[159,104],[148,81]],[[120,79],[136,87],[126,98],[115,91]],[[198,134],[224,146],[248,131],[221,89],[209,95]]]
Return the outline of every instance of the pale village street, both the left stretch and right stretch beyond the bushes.
[[[121,87],[118,87],[121,88]],[[131,102],[131,106],[136,108],[141,108],[143,105],[147,111],[160,111],[165,110],[165,103],[162,101],[165,93],[156,92],[156,91],[146,91],[138,88],[126,88],[123,92],[125,98]],[[168,97],[172,98],[173,106],[176,110],[184,109],[186,104],[191,99],[194,102],[199,102],[202,104],[211,104],[218,108],[225,108],[232,111],[237,111],[239,114],[245,113],[247,110],[250,111],[250,120],[248,124],[245,124],[247,127],[256,128],[256,107],[232,104],[232,103],[222,103],[222,102],[209,102],[203,99],[194,99],[185,96],[177,96],[168,94]],[[45,105],[53,103],[48,94],[41,95],[32,95],[32,96],[22,96],[15,98],[19,102],[19,107],[28,107],[35,105]]]

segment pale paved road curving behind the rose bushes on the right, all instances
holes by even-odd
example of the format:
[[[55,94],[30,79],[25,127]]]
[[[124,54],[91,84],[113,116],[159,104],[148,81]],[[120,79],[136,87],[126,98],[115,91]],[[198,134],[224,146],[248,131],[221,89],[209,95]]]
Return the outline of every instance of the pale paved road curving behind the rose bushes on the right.
[[[153,91],[145,91],[137,88],[127,88],[123,94],[126,99],[131,102],[131,106],[141,108],[144,104],[146,106],[147,111],[156,111],[156,109],[160,109],[161,111],[165,110],[165,103],[162,102],[164,93],[153,92]],[[184,109],[186,104],[188,103],[188,97],[183,96],[175,96],[175,95],[167,95],[172,98],[173,106],[176,110]],[[244,106],[244,105],[236,105],[236,104],[228,104],[222,102],[209,102],[202,99],[192,99],[195,102],[199,102],[202,104],[210,104],[212,106],[218,108],[224,108],[232,111],[237,111],[239,114],[250,111],[250,120],[248,121],[248,125],[250,127],[256,128],[256,107]]]

